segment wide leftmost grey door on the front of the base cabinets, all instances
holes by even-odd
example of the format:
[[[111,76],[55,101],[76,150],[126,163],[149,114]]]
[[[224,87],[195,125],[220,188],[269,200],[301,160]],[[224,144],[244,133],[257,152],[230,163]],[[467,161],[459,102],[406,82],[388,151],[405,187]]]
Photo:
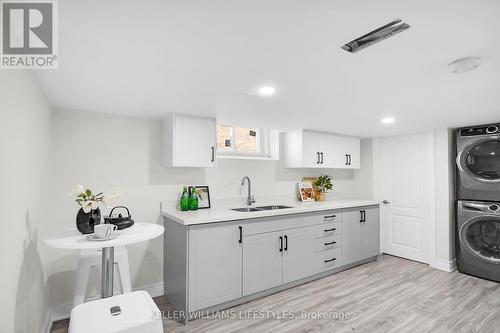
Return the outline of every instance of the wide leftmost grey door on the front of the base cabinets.
[[[242,296],[242,244],[237,225],[189,230],[189,310]]]

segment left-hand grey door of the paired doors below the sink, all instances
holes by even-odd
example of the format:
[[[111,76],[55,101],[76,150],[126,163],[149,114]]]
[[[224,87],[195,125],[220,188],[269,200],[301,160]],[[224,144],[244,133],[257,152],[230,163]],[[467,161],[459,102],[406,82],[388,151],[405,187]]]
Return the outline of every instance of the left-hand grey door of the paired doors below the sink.
[[[283,283],[281,231],[243,237],[243,296]]]

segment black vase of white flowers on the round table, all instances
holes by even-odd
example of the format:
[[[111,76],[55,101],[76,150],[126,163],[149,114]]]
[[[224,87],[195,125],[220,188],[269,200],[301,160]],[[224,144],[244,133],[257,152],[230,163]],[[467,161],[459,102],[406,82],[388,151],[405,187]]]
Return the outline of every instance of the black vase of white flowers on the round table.
[[[104,195],[103,192],[94,194],[92,190],[85,189],[83,185],[77,185],[71,194],[75,202],[81,207],[76,215],[76,228],[82,234],[91,234],[94,232],[94,225],[101,221],[101,210],[99,206],[104,203],[106,206],[114,204],[119,194],[111,191]]]

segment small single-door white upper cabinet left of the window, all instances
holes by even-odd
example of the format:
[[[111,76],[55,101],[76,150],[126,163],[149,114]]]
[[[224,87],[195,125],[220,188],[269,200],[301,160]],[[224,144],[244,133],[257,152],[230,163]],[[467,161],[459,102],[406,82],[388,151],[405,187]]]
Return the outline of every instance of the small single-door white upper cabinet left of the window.
[[[163,160],[167,167],[215,167],[215,118],[170,114],[163,120]]]

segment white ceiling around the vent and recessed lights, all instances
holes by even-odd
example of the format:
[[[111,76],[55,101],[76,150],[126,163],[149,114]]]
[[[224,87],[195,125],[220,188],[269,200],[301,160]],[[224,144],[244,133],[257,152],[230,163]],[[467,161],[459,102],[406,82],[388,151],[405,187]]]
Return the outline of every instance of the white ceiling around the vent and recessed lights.
[[[496,122],[499,14],[497,0],[64,0],[59,69],[37,78],[70,110],[363,137]],[[340,48],[395,18],[411,28]],[[482,66],[450,73],[465,56]],[[262,84],[276,96],[246,93]]]

